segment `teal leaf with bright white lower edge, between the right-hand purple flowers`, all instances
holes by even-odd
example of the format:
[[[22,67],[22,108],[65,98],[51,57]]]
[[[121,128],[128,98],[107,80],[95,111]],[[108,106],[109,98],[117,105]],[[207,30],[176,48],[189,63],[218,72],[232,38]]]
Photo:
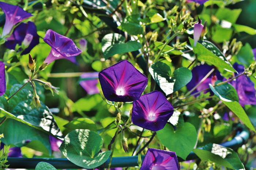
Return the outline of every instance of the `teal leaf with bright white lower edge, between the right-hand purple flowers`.
[[[221,82],[221,80],[217,80],[215,85]],[[209,86],[214,94],[217,95],[221,100],[226,102],[239,101],[237,91],[233,86],[231,86],[231,84],[225,83],[216,87],[213,87],[212,84],[209,84]]]

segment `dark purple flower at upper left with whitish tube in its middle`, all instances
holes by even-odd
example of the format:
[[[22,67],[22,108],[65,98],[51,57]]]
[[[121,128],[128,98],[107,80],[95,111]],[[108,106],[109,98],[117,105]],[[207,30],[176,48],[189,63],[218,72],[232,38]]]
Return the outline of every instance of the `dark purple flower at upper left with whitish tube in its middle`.
[[[39,44],[39,35],[37,34],[37,27],[33,22],[20,23],[12,32],[11,36],[7,38],[5,46],[8,49],[15,50],[16,44],[23,44],[27,47],[22,51],[21,55],[29,54],[29,52],[37,44]]]

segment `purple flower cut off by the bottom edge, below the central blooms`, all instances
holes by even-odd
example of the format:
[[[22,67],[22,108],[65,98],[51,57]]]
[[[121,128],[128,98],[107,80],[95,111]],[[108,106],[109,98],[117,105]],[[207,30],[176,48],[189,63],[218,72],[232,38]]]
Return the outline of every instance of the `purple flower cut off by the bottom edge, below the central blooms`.
[[[180,170],[175,152],[148,148],[140,170]]]

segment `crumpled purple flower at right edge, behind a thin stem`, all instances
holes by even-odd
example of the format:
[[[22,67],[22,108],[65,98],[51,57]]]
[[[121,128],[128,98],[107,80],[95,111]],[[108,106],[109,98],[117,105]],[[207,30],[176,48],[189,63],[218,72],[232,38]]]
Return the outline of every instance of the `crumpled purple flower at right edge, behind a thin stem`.
[[[233,67],[238,74],[244,71],[244,66],[241,64],[234,63]],[[235,76],[236,75],[237,73],[235,73]],[[244,107],[245,104],[256,104],[254,83],[248,77],[241,75],[235,80],[232,80],[230,84],[237,90],[239,103],[242,107]]]

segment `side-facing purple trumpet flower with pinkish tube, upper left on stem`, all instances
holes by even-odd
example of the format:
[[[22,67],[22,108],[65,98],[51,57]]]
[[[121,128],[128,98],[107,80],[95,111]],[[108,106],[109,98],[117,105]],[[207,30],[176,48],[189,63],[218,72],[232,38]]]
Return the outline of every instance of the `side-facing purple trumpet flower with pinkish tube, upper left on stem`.
[[[50,54],[44,61],[47,65],[57,59],[72,59],[72,62],[74,62],[74,56],[82,52],[82,50],[76,47],[74,41],[52,31],[52,29],[46,32],[44,41],[52,47]]]

